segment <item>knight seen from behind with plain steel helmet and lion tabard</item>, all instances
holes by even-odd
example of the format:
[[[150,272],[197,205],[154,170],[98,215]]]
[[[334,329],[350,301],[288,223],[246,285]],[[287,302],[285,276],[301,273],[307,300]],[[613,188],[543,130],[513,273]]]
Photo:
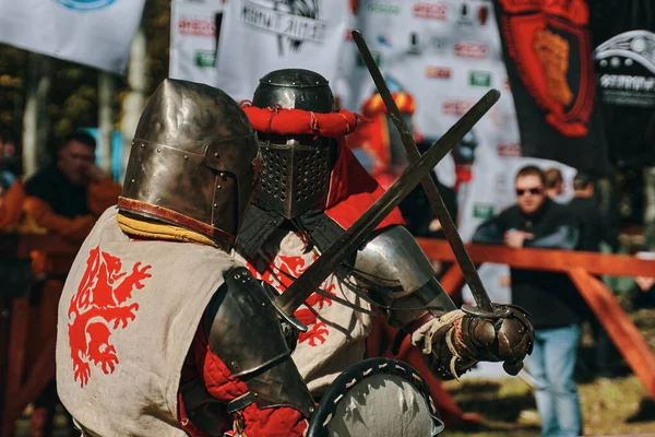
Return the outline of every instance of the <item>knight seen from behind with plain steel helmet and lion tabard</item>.
[[[313,400],[270,295],[228,252],[257,135],[221,90],[166,80],[122,196],[59,304],[57,386],[83,435],[300,436]]]

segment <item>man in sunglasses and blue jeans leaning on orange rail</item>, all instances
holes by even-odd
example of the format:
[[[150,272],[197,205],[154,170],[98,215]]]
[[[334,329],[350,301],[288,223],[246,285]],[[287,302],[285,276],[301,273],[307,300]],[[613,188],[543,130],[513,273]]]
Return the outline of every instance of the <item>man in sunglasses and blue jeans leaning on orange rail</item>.
[[[546,196],[545,182],[538,167],[522,168],[514,182],[516,204],[483,223],[473,240],[512,248],[575,248],[575,217]],[[512,303],[526,309],[535,324],[526,370],[535,379],[541,436],[579,436],[582,414],[573,371],[585,305],[564,273],[512,269],[511,281]]]

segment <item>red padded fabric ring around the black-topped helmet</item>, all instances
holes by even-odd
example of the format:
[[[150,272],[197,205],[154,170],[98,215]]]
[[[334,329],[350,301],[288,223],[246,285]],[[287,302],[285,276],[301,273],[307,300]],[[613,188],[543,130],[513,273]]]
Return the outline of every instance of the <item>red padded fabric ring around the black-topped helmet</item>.
[[[250,102],[241,102],[241,108],[254,130],[281,135],[319,135],[341,138],[357,129],[361,116],[347,109],[330,114],[281,107],[258,108]]]

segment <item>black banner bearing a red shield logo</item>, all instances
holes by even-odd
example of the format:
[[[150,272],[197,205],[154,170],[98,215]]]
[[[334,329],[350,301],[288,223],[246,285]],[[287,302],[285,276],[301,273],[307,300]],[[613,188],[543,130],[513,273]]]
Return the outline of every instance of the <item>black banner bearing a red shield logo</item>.
[[[606,174],[586,1],[495,3],[524,156]]]

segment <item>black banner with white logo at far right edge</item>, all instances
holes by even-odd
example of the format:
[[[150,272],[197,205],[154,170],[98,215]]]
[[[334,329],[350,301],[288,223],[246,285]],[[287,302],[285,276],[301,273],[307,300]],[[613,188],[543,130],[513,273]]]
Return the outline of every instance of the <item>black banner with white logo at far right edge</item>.
[[[598,0],[592,33],[610,160],[655,165],[655,2]]]

